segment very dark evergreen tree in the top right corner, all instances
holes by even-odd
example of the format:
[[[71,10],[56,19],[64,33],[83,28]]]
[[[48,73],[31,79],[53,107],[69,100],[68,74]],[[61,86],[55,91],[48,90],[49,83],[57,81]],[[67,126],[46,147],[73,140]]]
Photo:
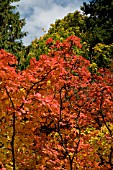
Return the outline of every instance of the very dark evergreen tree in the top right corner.
[[[93,56],[93,48],[98,43],[110,45],[113,43],[113,1],[92,0],[89,4],[83,3],[81,7],[86,19],[87,38],[90,53]],[[113,52],[113,51],[112,51]]]

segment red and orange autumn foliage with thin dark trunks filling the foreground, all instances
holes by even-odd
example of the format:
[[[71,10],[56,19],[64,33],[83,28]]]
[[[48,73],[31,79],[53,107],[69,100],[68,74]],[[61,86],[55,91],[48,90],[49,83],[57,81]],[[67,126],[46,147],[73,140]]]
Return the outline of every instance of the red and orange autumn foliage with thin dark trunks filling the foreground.
[[[16,69],[0,51],[0,161],[10,170],[113,168],[113,74],[91,72],[70,36]]]

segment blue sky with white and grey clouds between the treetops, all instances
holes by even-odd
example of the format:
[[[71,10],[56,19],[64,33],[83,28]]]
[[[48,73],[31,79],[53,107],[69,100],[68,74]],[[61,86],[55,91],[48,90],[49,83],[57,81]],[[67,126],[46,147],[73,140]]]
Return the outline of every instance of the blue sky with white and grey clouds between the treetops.
[[[28,35],[22,39],[24,45],[29,45],[35,38],[47,33],[50,24],[55,23],[56,19],[62,19],[68,13],[80,10],[83,2],[89,0],[20,0],[14,3],[18,5],[20,18],[25,18],[26,21],[22,29],[28,32]]]

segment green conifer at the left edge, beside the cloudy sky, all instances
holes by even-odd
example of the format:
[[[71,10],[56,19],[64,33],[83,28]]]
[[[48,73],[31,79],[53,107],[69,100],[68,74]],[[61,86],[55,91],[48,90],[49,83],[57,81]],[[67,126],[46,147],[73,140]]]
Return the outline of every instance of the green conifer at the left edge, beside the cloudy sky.
[[[0,49],[15,55],[24,48],[21,39],[26,35],[21,31],[25,20],[20,19],[19,12],[15,12],[16,7],[12,5],[18,1],[0,0]]]

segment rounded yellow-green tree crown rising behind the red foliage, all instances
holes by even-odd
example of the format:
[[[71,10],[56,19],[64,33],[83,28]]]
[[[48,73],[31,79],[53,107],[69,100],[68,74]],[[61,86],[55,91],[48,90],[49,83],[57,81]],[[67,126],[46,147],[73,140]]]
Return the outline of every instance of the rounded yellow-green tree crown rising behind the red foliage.
[[[91,21],[90,21],[91,20]],[[91,23],[90,23],[91,22]],[[35,39],[26,50],[22,52],[23,68],[29,65],[31,57],[39,59],[41,54],[48,54],[49,46],[46,45],[46,40],[50,38],[55,43],[56,40],[63,41],[70,35],[79,36],[81,38],[82,49],[75,49],[75,54],[82,55],[91,63],[95,63],[97,67],[110,67],[113,60],[113,43],[108,45],[103,38],[107,37],[102,24],[93,21],[93,18],[81,14],[79,11],[69,13],[63,19],[58,19],[54,24],[50,25],[48,33],[40,39]],[[108,25],[110,29],[110,25]]]

